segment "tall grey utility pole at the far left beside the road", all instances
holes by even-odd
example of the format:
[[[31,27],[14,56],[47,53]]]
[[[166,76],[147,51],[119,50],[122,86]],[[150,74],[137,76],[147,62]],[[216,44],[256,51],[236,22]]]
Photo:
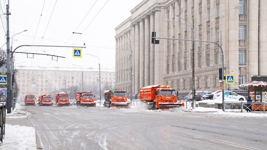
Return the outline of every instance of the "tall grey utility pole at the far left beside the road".
[[[10,38],[9,38],[9,1],[7,4],[7,113],[11,113],[12,93],[10,80]]]

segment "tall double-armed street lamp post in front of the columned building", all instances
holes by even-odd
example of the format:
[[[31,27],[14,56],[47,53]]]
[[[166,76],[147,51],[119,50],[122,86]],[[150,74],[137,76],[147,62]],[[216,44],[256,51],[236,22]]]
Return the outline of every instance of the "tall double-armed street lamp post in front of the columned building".
[[[174,14],[175,16],[181,18],[180,15],[178,14]],[[187,20],[181,18],[182,20],[184,20],[185,22],[189,23],[186,24],[188,26],[191,27],[191,39],[194,40],[194,25],[191,24],[190,22],[188,22]],[[180,23],[180,22],[178,22]],[[192,41],[192,101],[193,101],[193,109],[196,106],[196,90],[195,90],[195,42]]]

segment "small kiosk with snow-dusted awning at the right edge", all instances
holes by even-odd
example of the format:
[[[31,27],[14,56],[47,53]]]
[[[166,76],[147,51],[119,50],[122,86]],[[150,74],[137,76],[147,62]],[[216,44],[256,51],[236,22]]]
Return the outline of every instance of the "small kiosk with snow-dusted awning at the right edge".
[[[252,111],[263,111],[264,105],[265,111],[267,110],[267,76],[251,77],[251,81],[243,83],[239,87],[248,87],[248,96],[251,96],[252,102],[259,102],[252,104]]]

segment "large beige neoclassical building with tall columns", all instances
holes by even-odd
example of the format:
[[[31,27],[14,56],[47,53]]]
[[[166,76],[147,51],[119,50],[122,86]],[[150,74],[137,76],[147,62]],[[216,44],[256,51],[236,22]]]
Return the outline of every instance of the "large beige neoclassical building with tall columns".
[[[222,57],[224,76],[235,75],[224,89],[267,75],[267,1],[143,0],[130,12],[115,28],[117,88],[130,91],[131,50],[133,93],[157,84],[192,91],[192,59],[196,91],[220,89]],[[152,32],[171,39],[151,44]],[[194,42],[193,58],[192,41],[175,39],[216,42],[223,53],[217,44]]]

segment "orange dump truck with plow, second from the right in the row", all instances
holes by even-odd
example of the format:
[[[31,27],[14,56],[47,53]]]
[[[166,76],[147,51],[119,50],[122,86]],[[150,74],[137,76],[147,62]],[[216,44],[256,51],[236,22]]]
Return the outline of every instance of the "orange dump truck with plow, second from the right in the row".
[[[104,91],[104,107],[125,107],[131,108],[131,102],[127,100],[126,91],[122,89]]]

